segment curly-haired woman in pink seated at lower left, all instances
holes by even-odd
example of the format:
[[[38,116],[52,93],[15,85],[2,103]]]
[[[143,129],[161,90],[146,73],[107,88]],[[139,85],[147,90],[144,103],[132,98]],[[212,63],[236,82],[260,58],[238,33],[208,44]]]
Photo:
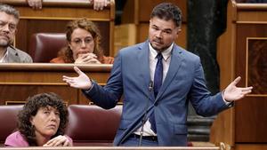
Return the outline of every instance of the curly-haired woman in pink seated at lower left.
[[[5,146],[72,146],[64,135],[68,119],[67,107],[54,93],[28,98],[18,114],[18,130],[9,135]]]

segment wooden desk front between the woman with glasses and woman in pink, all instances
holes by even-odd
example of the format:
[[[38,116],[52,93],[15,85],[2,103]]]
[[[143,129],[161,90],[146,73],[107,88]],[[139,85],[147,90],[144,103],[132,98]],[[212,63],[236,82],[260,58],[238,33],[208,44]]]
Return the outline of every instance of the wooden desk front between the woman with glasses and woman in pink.
[[[1,64],[0,105],[5,101],[24,101],[40,92],[55,92],[68,104],[88,104],[80,90],[69,87],[62,75],[77,76],[73,64]],[[112,65],[78,65],[85,74],[105,85]]]

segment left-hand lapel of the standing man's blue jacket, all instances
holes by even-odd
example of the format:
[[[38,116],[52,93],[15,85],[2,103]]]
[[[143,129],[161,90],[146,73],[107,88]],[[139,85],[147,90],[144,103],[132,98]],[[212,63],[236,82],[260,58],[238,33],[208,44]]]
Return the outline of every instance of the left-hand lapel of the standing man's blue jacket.
[[[149,42],[146,41],[145,43],[143,43],[140,47],[140,52],[137,54],[137,63],[140,65],[140,73],[142,75],[143,78],[143,82],[142,82],[142,88],[143,91],[147,91],[146,93],[148,93],[148,97],[150,100],[154,101],[154,92],[150,92],[149,91],[149,87],[150,87],[150,50],[149,50]],[[144,62],[144,63],[142,63]]]

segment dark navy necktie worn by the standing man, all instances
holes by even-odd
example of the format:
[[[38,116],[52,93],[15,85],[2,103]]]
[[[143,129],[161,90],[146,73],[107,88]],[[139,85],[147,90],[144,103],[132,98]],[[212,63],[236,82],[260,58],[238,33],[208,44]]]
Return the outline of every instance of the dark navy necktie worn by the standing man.
[[[154,95],[155,95],[155,98],[157,98],[158,91],[159,91],[161,84],[162,84],[163,65],[162,65],[161,52],[158,53],[157,59],[158,59],[158,62],[157,62],[157,66],[155,69],[155,75],[154,75]],[[153,110],[152,114],[150,115],[150,124],[151,124],[151,130],[153,130],[155,133],[157,133],[154,110]]]

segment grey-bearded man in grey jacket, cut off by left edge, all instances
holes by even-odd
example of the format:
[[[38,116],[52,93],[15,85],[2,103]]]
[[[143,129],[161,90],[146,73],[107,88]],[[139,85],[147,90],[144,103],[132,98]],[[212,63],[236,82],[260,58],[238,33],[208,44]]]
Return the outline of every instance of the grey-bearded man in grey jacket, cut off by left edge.
[[[0,4],[0,62],[32,62],[31,57],[24,51],[12,46],[20,13],[12,6]]]

